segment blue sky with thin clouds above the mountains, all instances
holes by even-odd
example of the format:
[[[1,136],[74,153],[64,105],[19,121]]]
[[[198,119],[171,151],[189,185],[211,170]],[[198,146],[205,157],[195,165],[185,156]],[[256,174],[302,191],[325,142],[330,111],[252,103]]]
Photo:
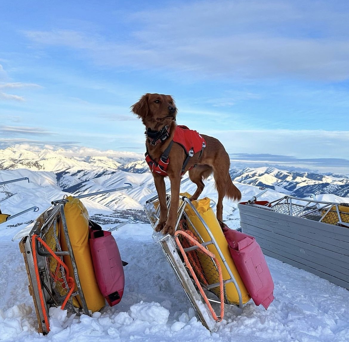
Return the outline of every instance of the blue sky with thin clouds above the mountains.
[[[349,2],[0,2],[0,148],[143,153],[130,106],[228,153],[348,160]]]

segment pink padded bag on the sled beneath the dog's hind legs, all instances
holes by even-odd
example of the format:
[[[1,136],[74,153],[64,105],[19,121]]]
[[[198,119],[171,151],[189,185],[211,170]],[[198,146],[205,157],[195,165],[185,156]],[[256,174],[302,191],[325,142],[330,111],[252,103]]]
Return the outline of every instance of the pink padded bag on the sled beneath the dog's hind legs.
[[[244,285],[255,305],[265,309],[274,300],[274,282],[263,252],[253,236],[222,228],[229,251]]]

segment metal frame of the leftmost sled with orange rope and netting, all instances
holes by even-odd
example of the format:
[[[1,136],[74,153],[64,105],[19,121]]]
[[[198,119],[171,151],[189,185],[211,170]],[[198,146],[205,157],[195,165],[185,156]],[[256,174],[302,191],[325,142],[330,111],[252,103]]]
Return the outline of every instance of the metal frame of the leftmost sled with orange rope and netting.
[[[75,198],[84,198],[96,194],[128,189],[131,187],[132,185],[129,184],[126,187],[75,196]],[[50,307],[64,306],[64,309],[70,313],[84,313],[89,316],[91,315],[84,298],[72,245],[69,239],[64,214],[64,206],[66,203],[66,199],[52,201],[52,206],[45,210],[36,219],[36,222],[34,223],[34,226],[29,234],[24,236],[19,243],[20,251],[23,254],[27,269],[29,293],[33,297],[38,319],[38,331],[44,334],[47,334],[50,331]],[[58,226],[59,222],[61,223],[66,240],[66,251],[61,250],[58,232],[60,230]],[[117,228],[119,227],[114,227],[114,229]],[[47,245],[49,245],[48,247],[52,251],[49,251]],[[65,265],[62,265],[64,264],[63,256],[69,256],[70,258],[75,283],[74,280],[72,283],[72,278],[67,277],[67,271],[64,267]],[[57,271],[55,274],[52,274],[52,262],[53,267],[55,267]],[[73,289],[75,285],[77,291],[74,292]],[[80,298],[80,308],[74,306],[73,300],[76,296],[79,296]]]

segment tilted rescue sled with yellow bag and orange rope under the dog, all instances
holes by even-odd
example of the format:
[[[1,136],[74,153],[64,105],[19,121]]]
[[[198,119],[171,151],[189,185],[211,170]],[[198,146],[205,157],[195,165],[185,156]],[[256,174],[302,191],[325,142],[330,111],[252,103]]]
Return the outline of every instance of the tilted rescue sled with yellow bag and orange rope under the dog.
[[[210,199],[190,201],[188,197],[190,195],[181,194],[174,236],[166,235],[159,242],[199,319],[213,332],[217,329],[216,322],[223,319],[224,305],[242,309],[251,296],[232,259],[221,227],[224,224],[218,222]],[[169,207],[170,195],[167,195],[167,204]],[[159,219],[157,196],[146,202],[145,210],[155,228]],[[231,231],[227,226],[224,228]],[[264,260],[262,254],[261,257]],[[269,280],[272,282],[271,276]],[[274,299],[274,284],[269,285],[269,303],[264,301],[266,307]],[[212,302],[219,304],[219,314],[213,309]]]

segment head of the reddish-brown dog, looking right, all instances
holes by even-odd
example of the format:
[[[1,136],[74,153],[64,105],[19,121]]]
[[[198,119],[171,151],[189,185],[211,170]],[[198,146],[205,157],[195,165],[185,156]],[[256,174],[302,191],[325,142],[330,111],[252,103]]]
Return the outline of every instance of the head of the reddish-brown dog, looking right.
[[[131,106],[131,110],[146,128],[159,131],[165,125],[176,120],[177,108],[170,95],[145,94]]]

